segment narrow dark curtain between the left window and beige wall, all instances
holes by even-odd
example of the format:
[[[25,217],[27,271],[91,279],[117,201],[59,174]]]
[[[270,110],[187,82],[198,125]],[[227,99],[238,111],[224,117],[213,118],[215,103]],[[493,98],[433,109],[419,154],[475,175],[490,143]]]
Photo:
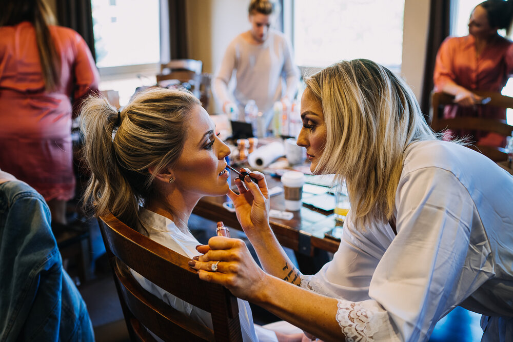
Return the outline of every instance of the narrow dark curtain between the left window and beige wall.
[[[187,27],[185,0],[168,0],[169,50],[171,59],[189,58],[187,52]]]

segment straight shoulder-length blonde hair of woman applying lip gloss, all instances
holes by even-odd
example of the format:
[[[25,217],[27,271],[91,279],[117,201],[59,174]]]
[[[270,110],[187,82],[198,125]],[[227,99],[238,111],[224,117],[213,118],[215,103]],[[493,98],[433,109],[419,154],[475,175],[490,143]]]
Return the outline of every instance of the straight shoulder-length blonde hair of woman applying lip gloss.
[[[403,153],[436,139],[411,89],[368,59],[329,66],[305,79],[321,104],[326,143],[315,173],[345,179],[356,227],[393,215]]]

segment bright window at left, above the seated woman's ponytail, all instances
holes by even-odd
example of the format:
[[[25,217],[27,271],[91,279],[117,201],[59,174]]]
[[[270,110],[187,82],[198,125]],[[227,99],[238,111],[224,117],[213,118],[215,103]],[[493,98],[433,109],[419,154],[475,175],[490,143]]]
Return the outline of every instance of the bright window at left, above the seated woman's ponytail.
[[[101,90],[126,105],[135,89],[154,85],[161,60],[159,0],[91,0]]]

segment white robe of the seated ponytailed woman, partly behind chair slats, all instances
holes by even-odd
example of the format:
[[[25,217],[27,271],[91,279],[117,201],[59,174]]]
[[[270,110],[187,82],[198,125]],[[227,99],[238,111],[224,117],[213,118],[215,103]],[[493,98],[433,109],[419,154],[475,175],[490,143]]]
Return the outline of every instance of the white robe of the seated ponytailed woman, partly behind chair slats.
[[[191,259],[193,256],[200,255],[200,253],[196,251],[196,246],[198,246],[200,243],[194,236],[192,236],[189,231],[182,232],[169,218],[156,214],[145,208],[139,208],[139,214],[142,223],[148,231],[148,237],[150,239]],[[201,323],[212,329],[212,316],[209,312],[197,308],[187,303],[186,301],[175,297],[169,292],[151,283],[151,281],[147,280],[139,273],[133,270],[130,271],[145,290],[159,298],[162,298],[165,303],[169,304],[176,310],[189,315],[198,323]],[[239,318],[241,322],[242,338],[245,342],[278,341],[276,334],[273,331],[264,329],[259,326],[255,327],[253,325],[251,308],[249,307],[249,304],[246,300],[237,298],[237,301],[239,304]],[[153,337],[159,339],[155,335],[153,335]]]

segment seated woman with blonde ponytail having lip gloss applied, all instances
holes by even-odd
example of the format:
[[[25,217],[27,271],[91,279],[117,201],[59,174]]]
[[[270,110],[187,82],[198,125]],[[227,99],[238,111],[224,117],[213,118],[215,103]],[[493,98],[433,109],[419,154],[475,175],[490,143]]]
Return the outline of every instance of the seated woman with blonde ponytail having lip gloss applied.
[[[94,204],[95,216],[111,212],[173,251],[199,255],[187,222],[201,197],[229,191],[230,154],[200,101],[186,91],[155,88],[118,112],[106,99],[91,97],[82,120],[92,172],[85,203]],[[212,328],[209,313],[132,274],[147,291]],[[247,301],[239,299],[239,311],[244,341],[278,340],[273,331],[255,328]]]

